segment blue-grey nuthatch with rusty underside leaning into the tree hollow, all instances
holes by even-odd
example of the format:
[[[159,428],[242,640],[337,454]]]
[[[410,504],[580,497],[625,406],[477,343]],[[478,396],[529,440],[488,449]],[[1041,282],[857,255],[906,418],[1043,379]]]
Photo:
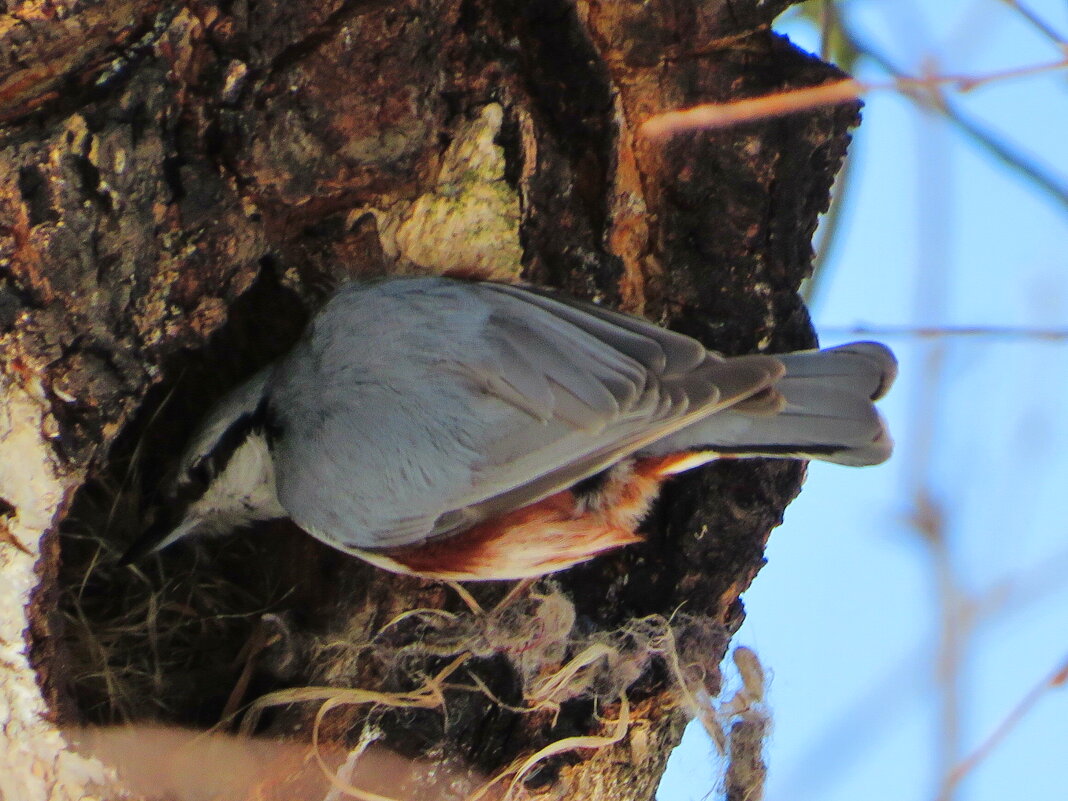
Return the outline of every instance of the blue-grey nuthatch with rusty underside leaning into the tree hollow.
[[[884,461],[896,372],[874,342],[724,357],[529,285],[354,281],[207,414],[122,562],[289,518],[393,572],[539,577],[641,540],[713,459]]]

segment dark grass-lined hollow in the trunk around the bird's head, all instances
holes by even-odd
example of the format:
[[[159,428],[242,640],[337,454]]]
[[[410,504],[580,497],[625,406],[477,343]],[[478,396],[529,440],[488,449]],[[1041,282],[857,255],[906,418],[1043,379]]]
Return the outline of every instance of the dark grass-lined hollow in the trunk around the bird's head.
[[[117,560],[151,522],[200,419],[290,347],[307,317],[300,298],[265,269],[203,348],[163,365],[76,493],[59,528],[47,629],[35,642],[62,722],[203,728],[285,684],[278,672],[250,672],[250,649],[265,615],[300,623],[315,607],[318,543],[272,523],[191,538],[131,566]]]

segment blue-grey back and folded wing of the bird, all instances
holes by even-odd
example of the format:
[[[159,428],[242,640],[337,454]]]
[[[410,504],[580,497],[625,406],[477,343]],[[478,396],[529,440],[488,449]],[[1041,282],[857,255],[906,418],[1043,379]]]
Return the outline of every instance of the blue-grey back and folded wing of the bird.
[[[279,498],[334,545],[411,545],[566,488],[781,374],[518,286],[357,287],[276,373]]]

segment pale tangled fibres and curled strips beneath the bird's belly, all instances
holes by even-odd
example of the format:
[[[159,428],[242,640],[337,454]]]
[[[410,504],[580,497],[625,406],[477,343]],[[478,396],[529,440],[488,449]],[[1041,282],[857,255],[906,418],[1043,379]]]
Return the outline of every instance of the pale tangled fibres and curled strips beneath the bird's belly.
[[[315,718],[318,725],[329,710],[348,704],[394,708],[438,705],[445,713],[444,691],[467,690],[523,713],[555,714],[561,705],[576,698],[592,701],[597,709],[604,710],[602,734],[561,738],[516,759],[475,792],[472,801],[505,783],[505,797],[513,796],[523,778],[550,757],[576,749],[607,748],[624,740],[630,723],[628,689],[645,675],[654,659],[668,665],[666,674],[679,705],[691,713],[707,708],[698,697],[706,694],[704,685],[714,665],[708,663],[710,653],[697,653],[694,646],[705,646],[724,634],[704,618],[676,614],[669,621],[651,615],[614,631],[581,633],[572,602],[552,580],[543,580],[525,594],[509,595],[488,611],[471,598],[466,600],[469,611],[464,613],[440,609],[405,612],[389,621],[370,641],[357,635],[364,630],[361,619],[352,631],[327,638],[317,646],[317,658],[329,664],[330,684],[345,684],[349,671],[355,674],[366,660],[375,660],[386,674],[404,675],[407,684],[418,689],[382,694],[305,688],[274,693],[256,702],[255,707],[314,701],[320,704]],[[679,642],[689,645],[680,648]],[[494,656],[503,656],[519,677],[520,706],[504,704],[474,672],[466,670],[469,660]],[[420,673],[427,658],[452,661],[427,679]],[[367,718],[367,726],[374,725],[372,720]]]

